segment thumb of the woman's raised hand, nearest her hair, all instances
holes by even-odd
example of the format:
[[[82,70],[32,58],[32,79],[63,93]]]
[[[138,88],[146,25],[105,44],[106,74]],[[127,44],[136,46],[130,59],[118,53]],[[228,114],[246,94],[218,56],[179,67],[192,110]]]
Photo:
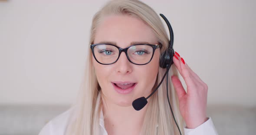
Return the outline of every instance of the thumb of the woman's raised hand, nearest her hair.
[[[184,87],[182,86],[181,81],[179,80],[179,78],[177,76],[171,76],[171,80],[172,80],[172,83],[174,85],[174,89],[177,93],[177,96],[180,100],[187,93],[184,90]]]

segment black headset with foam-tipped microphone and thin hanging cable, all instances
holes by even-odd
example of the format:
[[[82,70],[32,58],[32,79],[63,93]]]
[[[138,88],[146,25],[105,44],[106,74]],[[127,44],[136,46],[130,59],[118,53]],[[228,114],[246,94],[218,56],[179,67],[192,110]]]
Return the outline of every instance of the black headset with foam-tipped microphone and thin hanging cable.
[[[168,26],[168,29],[169,29],[169,33],[170,33],[170,41],[169,41],[169,45],[168,45],[168,48],[166,49],[166,51],[164,51],[164,53],[161,54],[160,56],[160,61],[159,61],[159,66],[162,67],[162,68],[166,68],[166,72],[164,73],[164,77],[166,77],[166,93],[167,93],[167,99],[168,99],[168,103],[169,103],[169,107],[171,109],[171,104],[170,104],[170,100],[169,100],[169,96],[168,96],[168,71],[169,69],[171,68],[171,65],[174,63],[173,62],[173,56],[174,56],[174,49],[173,49],[173,41],[174,41],[174,35],[173,35],[173,30],[172,30],[172,27],[171,27],[171,24],[169,23],[168,19],[163,15],[163,14],[160,14],[160,16],[164,19],[165,23],[167,24]],[[152,96],[154,94],[154,92],[156,90],[158,90],[158,87],[160,87],[160,85],[162,84],[163,80],[164,80],[164,77],[162,78],[161,82],[158,84],[158,86],[152,91],[152,93],[147,97],[145,98],[144,96],[143,97],[140,97],[136,100],[134,100],[132,102],[132,106],[135,110],[141,110],[144,106],[146,106],[146,104],[148,103],[147,99]],[[174,118],[174,121],[177,125],[177,128],[181,134],[181,130],[176,122],[176,119],[174,117],[174,114],[173,114],[173,111],[171,109],[171,113],[172,113],[172,116]]]

